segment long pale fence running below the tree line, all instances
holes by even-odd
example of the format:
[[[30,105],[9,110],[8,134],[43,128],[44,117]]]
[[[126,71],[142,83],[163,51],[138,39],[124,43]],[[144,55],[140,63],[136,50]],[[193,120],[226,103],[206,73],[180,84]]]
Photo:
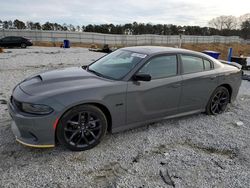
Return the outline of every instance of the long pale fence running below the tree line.
[[[173,45],[179,44],[179,35],[111,35],[88,32],[41,31],[41,30],[0,30],[0,38],[5,36],[23,36],[33,41],[109,44],[109,45]],[[241,43],[238,36],[194,36],[182,35],[182,43]]]

